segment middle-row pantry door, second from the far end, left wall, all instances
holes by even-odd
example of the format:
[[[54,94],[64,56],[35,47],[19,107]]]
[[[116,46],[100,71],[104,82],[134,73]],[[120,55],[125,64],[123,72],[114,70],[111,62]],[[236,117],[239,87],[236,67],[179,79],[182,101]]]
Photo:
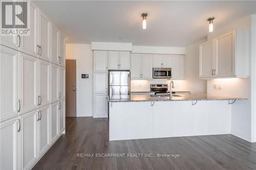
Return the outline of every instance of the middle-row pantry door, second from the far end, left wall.
[[[51,103],[58,101],[58,65],[51,64]]]

